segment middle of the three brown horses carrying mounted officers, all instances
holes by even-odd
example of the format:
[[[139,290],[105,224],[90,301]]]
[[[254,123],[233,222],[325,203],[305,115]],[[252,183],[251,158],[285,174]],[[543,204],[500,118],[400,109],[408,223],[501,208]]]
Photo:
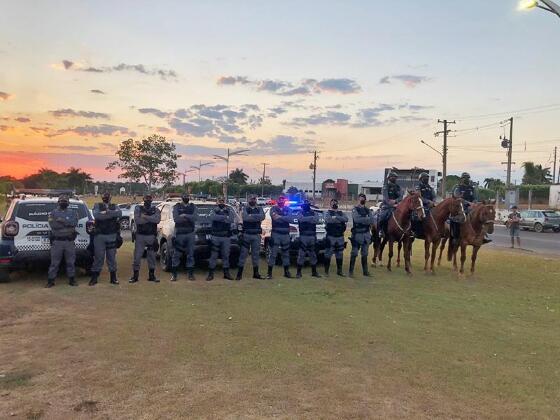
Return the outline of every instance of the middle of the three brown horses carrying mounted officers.
[[[430,272],[434,274],[434,262],[436,251],[442,239],[445,240],[446,221],[453,218],[460,223],[466,219],[463,200],[461,198],[446,198],[437,206],[433,207],[422,222],[424,232],[424,271],[428,272],[428,260],[430,260],[430,245],[432,246]]]

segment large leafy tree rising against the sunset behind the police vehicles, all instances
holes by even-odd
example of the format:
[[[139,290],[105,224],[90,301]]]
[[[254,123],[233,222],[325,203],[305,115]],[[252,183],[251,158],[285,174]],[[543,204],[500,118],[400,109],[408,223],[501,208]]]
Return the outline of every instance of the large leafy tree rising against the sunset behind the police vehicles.
[[[157,134],[123,141],[117,156],[118,160],[110,162],[107,170],[120,169],[119,178],[143,180],[149,191],[154,184],[171,184],[178,176],[177,159],[181,156],[175,153],[173,143]]]

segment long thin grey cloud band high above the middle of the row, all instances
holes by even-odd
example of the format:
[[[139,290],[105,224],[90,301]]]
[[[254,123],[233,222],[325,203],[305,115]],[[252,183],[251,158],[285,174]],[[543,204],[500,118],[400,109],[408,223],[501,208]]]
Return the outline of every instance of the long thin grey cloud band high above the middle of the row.
[[[309,96],[324,93],[351,94],[362,90],[361,86],[352,79],[304,79],[299,83],[284,80],[251,80],[245,76],[221,76],[217,80],[219,86],[250,85],[258,92],[268,92],[280,96]]]

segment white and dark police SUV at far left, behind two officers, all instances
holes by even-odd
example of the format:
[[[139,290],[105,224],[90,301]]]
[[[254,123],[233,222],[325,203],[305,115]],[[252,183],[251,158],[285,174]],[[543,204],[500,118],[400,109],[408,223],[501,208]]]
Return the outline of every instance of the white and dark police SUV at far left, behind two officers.
[[[0,279],[7,280],[10,271],[50,262],[48,217],[57,206],[57,197],[32,196],[12,200],[0,223]],[[93,217],[81,200],[70,199],[69,208],[78,214],[76,265],[89,270],[93,261],[88,250]]]

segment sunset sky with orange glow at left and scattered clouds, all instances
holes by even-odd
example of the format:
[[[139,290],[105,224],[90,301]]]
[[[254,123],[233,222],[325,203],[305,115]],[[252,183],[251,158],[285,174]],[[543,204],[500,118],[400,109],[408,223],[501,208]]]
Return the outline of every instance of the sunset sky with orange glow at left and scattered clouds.
[[[0,14],[0,175],[80,167],[159,134],[185,171],[252,180],[381,180],[386,167],[505,179],[560,146],[560,20],[517,0],[7,1]],[[560,152],[559,152],[560,156]],[[187,173],[187,180],[197,172]]]

